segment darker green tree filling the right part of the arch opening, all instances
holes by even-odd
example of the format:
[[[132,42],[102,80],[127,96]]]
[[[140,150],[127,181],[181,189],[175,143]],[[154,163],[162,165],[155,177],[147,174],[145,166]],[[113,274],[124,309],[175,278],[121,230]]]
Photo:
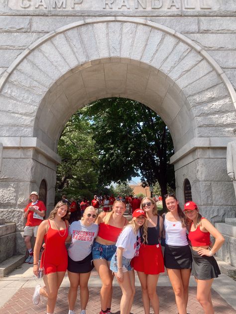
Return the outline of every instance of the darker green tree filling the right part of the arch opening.
[[[91,121],[100,152],[99,182],[130,180],[141,173],[142,185],[174,187],[171,135],[162,119],[147,106],[124,98],[97,100],[81,110]]]

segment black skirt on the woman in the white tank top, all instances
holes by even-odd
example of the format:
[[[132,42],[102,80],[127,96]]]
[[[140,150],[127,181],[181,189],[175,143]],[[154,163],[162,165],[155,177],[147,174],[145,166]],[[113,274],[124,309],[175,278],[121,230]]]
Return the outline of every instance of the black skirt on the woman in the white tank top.
[[[189,245],[165,245],[164,264],[169,269],[191,269],[192,254]]]

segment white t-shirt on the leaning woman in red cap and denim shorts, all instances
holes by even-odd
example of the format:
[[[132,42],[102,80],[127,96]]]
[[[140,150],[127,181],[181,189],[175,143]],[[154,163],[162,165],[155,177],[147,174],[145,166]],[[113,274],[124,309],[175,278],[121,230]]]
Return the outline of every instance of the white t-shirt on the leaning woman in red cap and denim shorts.
[[[137,236],[140,237],[140,232],[136,235],[131,226],[127,226],[118,237],[116,246],[123,248],[123,257],[133,258],[136,251]]]

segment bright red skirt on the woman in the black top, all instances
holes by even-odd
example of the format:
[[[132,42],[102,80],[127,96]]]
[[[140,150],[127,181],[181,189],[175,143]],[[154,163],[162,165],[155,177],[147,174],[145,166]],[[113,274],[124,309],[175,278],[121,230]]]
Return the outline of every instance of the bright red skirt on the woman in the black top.
[[[158,247],[157,247],[158,245]],[[164,260],[161,245],[142,244],[139,255],[132,259],[132,267],[146,275],[157,275],[164,272]]]

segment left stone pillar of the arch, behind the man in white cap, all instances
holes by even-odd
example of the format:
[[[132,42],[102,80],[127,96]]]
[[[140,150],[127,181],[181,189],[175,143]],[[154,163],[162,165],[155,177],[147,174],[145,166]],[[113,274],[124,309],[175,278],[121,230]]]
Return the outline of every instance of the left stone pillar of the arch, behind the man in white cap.
[[[14,140],[15,141],[15,140]],[[13,142],[14,142],[13,141]],[[7,142],[7,143],[6,143]],[[47,213],[52,210],[55,198],[56,165],[60,158],[49,149],[43,150],[40,141],[28,139],[26,144],[10,143],[3,145],[2,167],[0,170],[0,218],[7,223],[16,223],[16,252],[24,253],[22,231],[24,229],[23,209],[29,201],[31,191],[39,191],[41,181],[47,184]],[[32,147],[32,142],[35,142]],[[4,144],[4,143],[3,143]],[[31,147],[29,147],[31,145]],[[57,157],[57,159],[53,158]]]

